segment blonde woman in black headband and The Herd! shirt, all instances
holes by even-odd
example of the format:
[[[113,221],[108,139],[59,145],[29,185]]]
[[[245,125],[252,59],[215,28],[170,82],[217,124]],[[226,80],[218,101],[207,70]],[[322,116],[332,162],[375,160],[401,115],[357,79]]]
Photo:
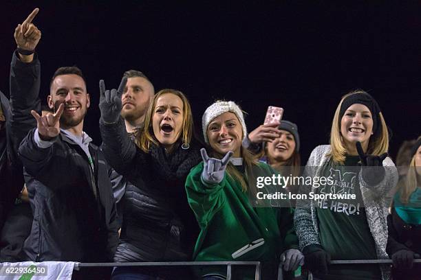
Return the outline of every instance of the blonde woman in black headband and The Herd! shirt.
[[[334,114],[330,145],[316,147],[307,161],[303,176],[314,180],[301,185],[300,193],[352,194],[354,199],[296,201],[296,234],[314,279],[389,279],[388,266],[330,266],[330,259],[389,258],[387,194],[398,172],[387,157],[388,148],[387,126],[376,100],[360,90],[345,95]],[[315,179],[322,177],[331,180],[318,184]]]

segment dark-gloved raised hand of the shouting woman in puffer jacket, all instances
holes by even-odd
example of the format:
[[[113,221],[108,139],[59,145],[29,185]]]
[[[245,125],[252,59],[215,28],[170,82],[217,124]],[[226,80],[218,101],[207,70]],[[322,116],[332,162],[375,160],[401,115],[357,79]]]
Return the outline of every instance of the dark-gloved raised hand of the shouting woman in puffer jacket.
[[[121,95],[125,89],[127,77],[123,77],[118,89],[105,90],[104,80],[100,80],[100,111],[101,119],[107,124],[114,124],[120,117],[122,109]]]

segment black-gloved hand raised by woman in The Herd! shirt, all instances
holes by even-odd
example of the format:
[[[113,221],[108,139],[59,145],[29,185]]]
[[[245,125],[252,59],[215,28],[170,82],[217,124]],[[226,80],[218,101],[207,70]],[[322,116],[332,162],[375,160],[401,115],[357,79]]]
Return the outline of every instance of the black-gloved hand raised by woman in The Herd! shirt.
[[[356,149],[363,165],[361,167],[363,179],[370,186],[378,185],[385,178],[386,172],[385,167],[383,167],[383,161],[387,157],[387,152],[380,156],[365,154],[359,141],[356,142]]]

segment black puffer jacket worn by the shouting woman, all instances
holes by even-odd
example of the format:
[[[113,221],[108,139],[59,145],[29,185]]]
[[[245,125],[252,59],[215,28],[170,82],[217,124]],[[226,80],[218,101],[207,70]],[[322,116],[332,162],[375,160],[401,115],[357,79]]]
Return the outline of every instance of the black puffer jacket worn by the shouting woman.
[[[157,146],[145,153],[131,141],[122,119],[117,124],[100,121],[100,131],[107,161],[131,183],[121,201],[122,232],[114,260],[191,259],[199,229],[184,183],[201,161],[199,144],[183,150],[178,143],[169,155]]]

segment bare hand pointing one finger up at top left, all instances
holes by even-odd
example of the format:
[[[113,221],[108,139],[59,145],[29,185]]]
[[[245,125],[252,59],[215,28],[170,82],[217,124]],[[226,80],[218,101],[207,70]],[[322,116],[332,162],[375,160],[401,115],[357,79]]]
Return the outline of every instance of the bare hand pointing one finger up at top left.
[[[20,49],[33,51],[38,45],[39,39],[41,39],[41,31],[32,23],[38,12],[39,8],[35,8],[25,21],[18,24],[14,30],[14,40]]]

